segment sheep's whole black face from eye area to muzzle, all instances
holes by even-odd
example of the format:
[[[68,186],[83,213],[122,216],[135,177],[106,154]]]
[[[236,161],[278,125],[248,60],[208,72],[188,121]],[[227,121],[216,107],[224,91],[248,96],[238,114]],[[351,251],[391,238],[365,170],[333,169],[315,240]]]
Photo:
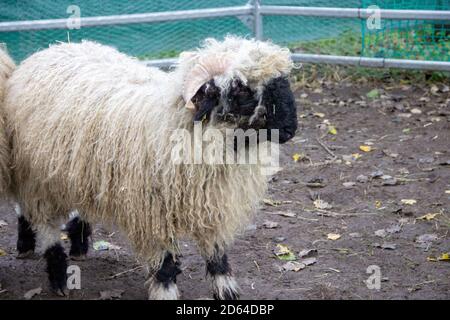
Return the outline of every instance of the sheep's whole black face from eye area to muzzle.
[[[233,81],[227,92],[220,92],[214,80],[205,83],[192,99],[197,107],[194,121],[209,120],[213,110],[215,119],[232,123],[240,129],[279,130],[279,142],[294,137],[297,130],[295,98],[285,77],[271,80],[264,88],[261,101],[256,93],[241,81]]]

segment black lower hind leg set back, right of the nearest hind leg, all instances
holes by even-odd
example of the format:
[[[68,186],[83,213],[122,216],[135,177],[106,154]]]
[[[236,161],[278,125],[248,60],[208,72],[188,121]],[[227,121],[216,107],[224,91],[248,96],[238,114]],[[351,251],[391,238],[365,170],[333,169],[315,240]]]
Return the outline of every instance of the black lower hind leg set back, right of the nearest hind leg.
[[[75,217],[67,223],[66,231],[71,242],[69,255],[74,260],[84,259],[89,249],[91,226],[79,217]]]

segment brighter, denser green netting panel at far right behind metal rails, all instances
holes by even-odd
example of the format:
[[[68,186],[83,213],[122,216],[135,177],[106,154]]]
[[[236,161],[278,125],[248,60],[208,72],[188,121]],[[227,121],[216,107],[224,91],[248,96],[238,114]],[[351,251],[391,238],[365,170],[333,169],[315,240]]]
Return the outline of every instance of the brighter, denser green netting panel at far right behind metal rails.
[[[363,7],[450,10],[450,0],[363,0]],[[362,25],[362,54],[369,57],[450,61],[450,21],[381,20],[380,29]]]

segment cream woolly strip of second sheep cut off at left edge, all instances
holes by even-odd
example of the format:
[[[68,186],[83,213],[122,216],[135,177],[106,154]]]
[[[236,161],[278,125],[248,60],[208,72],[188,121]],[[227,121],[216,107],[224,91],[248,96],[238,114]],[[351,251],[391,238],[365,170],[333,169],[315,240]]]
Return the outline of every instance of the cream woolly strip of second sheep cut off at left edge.
[[[16,65],[11,57],[0,47],[0,197],[9,195],[11,185],[10,144],[6,134],[3,100],[6,96],[6,83]]]

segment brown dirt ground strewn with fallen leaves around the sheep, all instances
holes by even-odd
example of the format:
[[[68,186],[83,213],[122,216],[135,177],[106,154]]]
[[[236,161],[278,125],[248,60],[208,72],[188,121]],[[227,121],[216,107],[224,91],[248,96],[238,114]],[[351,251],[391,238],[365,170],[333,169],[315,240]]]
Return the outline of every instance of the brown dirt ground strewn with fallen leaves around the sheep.
[[[229,251],[241,298],[449,299],[449,88],[322,81],[297,89],[296,97],[297,136],[281,148],[282,170],[255,224]],[[11,207],[1,206],[0,220],[7,224],[0,226],[0,299],[23,299],[38,287],[34,299],[54,299],[41,250],[15,258]],[[123,290],[121,299],[146,299],[144,273],[126,241],[96,226],[98,240],[121,249],[91,249],[86,261],[71,261],[81,268],[82,290],[69,298]],[[277,244],[288,246],[300,262],[293,266],[303,269],[286,270]],[[191,242],[182,247],[182,298],[210,298],[202,259]],[[305,261],[300,251],[309,249],[317,252]],[[377,275],[369,266],[380,272],[379,290],[365,282]]]

